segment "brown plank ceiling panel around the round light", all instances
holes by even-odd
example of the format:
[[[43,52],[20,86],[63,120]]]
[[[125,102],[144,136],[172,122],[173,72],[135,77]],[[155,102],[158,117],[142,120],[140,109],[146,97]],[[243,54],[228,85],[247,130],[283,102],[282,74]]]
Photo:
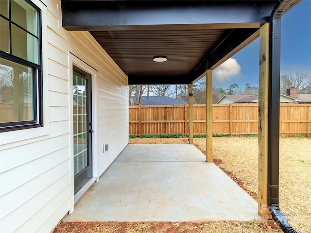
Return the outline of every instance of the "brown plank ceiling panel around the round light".
[[[129,76],[184,75],[219,44],[228,29],[90,33]],[[163,63],[154,56],[166,56]]]

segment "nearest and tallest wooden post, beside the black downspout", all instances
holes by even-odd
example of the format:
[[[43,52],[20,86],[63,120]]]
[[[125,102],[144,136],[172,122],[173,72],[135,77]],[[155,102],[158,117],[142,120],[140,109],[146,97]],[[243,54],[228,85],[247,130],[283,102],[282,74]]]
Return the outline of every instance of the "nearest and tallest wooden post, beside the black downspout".
[[[259,42],[259,157],[258,213],[268,218],[268,96],[269,96],[269,23],[260,28]]]

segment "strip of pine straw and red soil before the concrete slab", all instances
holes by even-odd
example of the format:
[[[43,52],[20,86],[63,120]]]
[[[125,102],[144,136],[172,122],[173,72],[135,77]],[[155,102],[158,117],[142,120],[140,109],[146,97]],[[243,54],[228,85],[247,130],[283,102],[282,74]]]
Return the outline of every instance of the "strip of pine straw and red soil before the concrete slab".
[[[274,223],[257,222],[68,222],[53,233],[276,233]],[[271,229],[271,230],[269,230]]]

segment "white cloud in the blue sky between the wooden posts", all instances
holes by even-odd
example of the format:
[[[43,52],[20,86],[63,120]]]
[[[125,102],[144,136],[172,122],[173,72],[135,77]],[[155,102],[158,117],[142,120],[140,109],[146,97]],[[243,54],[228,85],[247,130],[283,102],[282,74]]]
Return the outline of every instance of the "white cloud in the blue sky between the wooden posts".
[[[240,64],[234,58],[229,58],[213,70],[213,84],[221,85],[231,79],[240,78],[241,74]]]

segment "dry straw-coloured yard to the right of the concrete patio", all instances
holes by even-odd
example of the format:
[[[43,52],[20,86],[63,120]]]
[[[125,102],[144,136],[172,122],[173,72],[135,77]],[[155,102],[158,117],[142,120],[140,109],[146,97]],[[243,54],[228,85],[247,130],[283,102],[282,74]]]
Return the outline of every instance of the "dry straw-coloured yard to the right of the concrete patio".
[[[194,138],[205,150],[205,139]],[[213,138],[218,165],[241,179],[243,188],[258,192],[258,138]],[[300,233],[311,233],[311,139],[280,138],[279,202],[289,223]]]

